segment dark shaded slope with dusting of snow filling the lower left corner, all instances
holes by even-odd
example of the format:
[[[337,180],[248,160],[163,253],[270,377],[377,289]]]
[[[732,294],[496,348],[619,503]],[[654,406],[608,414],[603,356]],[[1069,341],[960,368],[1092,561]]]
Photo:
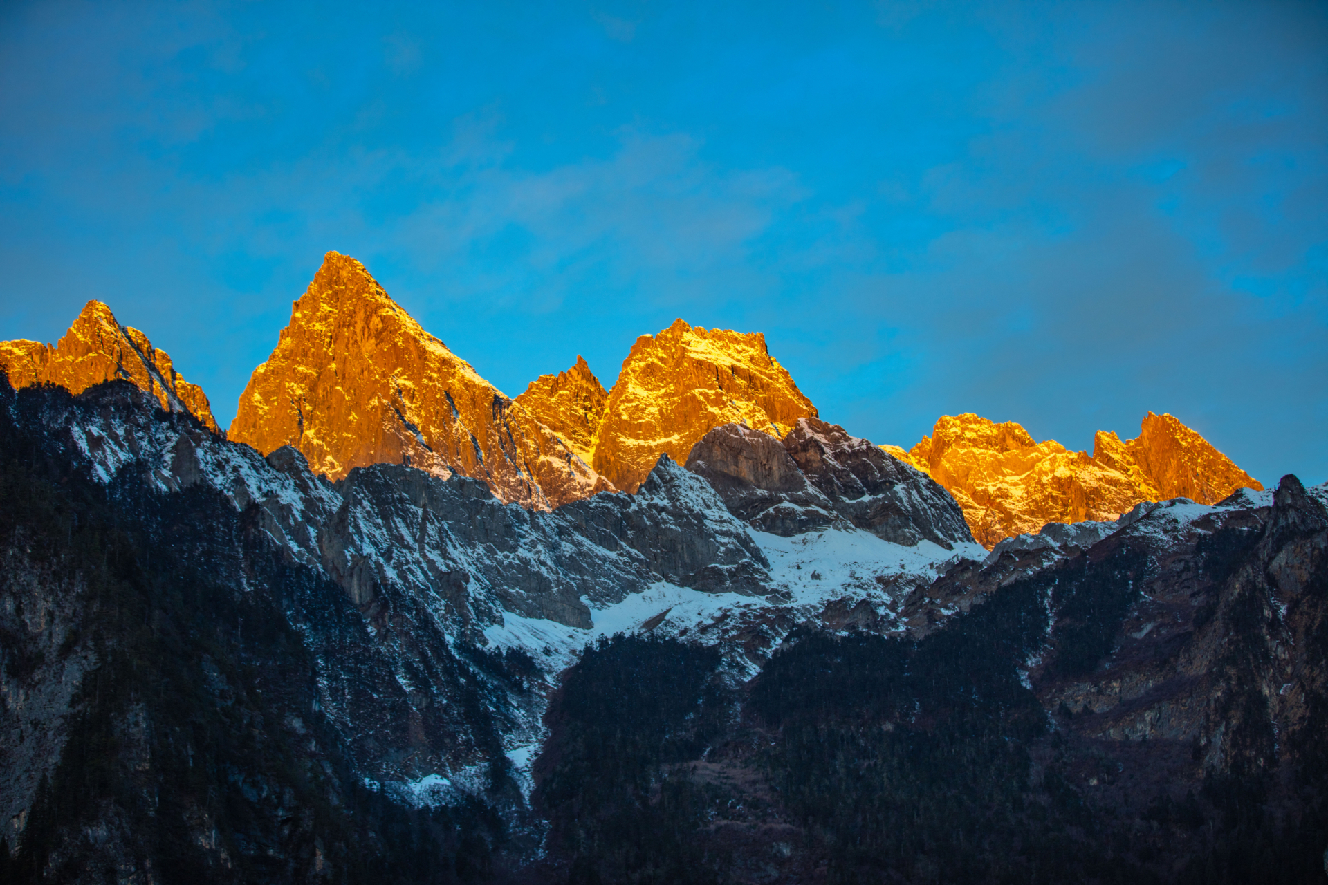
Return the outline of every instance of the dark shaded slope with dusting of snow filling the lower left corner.
[[[417,854],[491,835],[412,805],[433,772],[519,820],[538,667],[400,585],[356,605],[308,555],[335,492],[272,460],[125,381],[0,377],[0,880],[438,881]]]

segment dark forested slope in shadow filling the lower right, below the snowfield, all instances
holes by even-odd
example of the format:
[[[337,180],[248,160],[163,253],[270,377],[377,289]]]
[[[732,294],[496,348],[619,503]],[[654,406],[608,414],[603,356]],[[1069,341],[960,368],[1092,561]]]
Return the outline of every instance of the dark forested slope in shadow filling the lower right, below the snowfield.
[[[548,713],[546,862],[570,881],[1321,881],[1328,515],[1293,476],[1248,503],[991,563],[1004,579],[969,581],[967,613],[920,640],[795,632],[745,685],[681,644],[602,645]],[[693,674],[688,703],[631,701],[672,697],[668,667]]]

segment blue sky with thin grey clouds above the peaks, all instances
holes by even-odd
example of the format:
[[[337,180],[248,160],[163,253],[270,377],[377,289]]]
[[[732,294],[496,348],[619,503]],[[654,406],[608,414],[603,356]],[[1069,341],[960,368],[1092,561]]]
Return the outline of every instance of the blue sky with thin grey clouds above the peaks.
[[[510,395],[680,316],[1317,483],[1328,3],[0,5],[0,338],[101,299],[224,425],[328,249]]]

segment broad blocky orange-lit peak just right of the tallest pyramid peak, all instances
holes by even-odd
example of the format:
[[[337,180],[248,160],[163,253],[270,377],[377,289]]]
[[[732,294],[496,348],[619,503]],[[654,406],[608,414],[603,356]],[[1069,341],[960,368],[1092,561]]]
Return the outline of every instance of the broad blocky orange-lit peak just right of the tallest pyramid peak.
[[[636,491],[660,454],[683,463],[712,427],[746,422],[782,439],[811,401],[770,357],[765,336],[689,326],[677,320],[641,336],[608,394],[595,470]]]

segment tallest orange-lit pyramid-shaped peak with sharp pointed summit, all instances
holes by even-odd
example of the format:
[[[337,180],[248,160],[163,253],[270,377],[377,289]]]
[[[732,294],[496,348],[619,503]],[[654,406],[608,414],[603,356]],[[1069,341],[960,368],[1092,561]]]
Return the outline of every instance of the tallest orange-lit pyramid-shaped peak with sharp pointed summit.
[[[409,464],[558,507],[608,488],[525,407],[425,332],[355,259],[328,252],[240,397],[230,438],[295,446],[332,479]]]

